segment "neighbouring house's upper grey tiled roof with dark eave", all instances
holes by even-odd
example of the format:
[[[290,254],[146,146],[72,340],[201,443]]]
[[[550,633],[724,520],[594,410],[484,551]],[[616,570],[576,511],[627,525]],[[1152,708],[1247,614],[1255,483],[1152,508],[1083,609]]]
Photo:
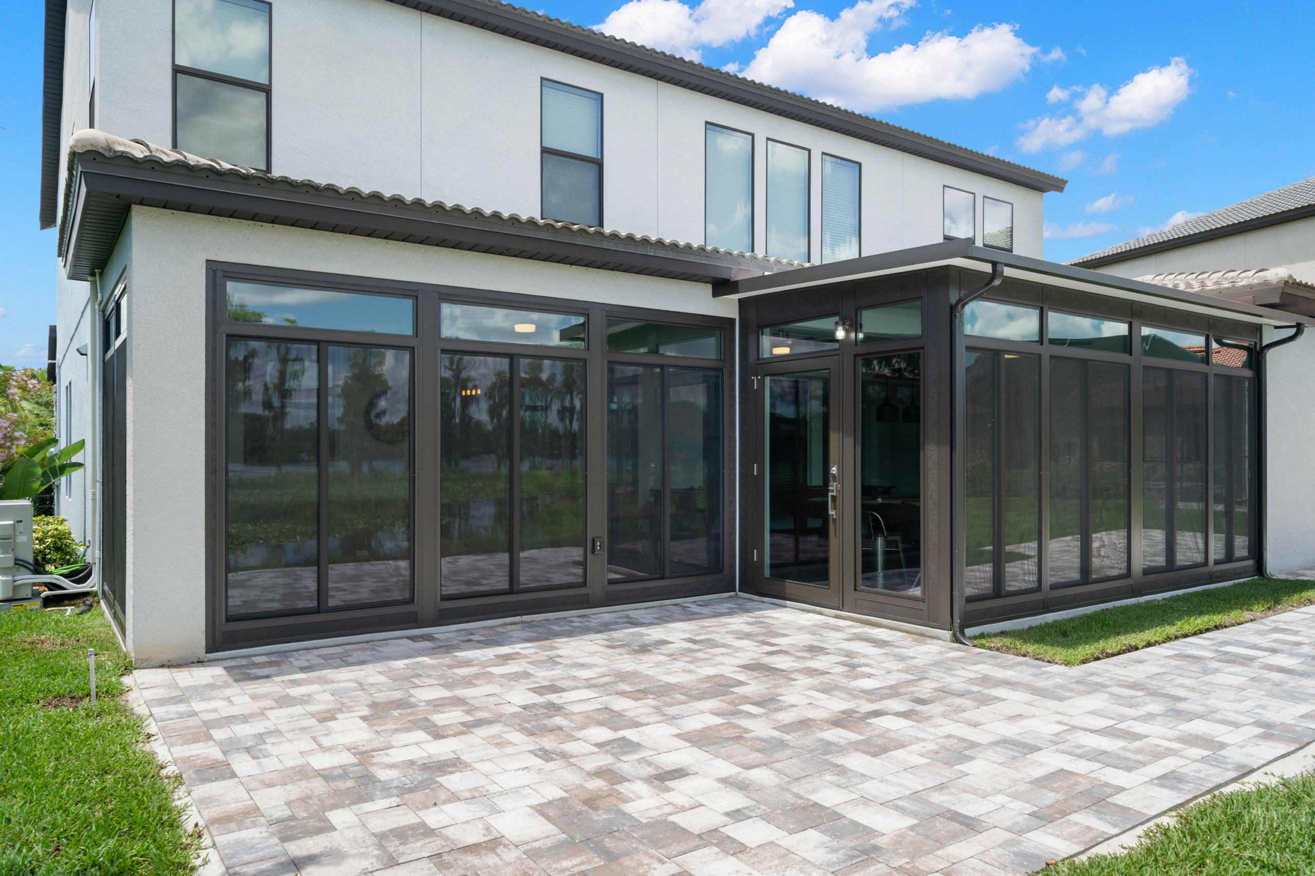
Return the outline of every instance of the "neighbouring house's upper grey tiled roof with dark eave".
[[[1152,253],[1174,250],[1180,246],[1291,222],[1308,216],[1315,216],[1315,176],[1239,201],[1212,213],[1205,213],[1162,231],[1084,255],[1073,259],[1069,264],[1094,268],[1127,262]]]

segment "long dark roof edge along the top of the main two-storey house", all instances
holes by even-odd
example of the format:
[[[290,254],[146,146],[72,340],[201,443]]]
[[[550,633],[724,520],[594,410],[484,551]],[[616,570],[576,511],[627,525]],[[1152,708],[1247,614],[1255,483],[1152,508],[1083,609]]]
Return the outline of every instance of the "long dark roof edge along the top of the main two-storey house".
[[[639,43],[497,0],[389,0],[505,37],[640,74],[690,91],[834,130],[1039,192],[1063,192],[1068,180],[832,104],[707,67]]]

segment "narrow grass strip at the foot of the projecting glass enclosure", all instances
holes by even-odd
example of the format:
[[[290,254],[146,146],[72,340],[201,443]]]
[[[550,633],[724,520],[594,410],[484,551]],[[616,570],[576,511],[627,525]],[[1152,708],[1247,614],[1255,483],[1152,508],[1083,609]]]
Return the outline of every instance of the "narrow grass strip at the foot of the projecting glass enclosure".
[[[1210,591],[1101,609],[980,635],[978,647],[1078,666],[1315,604],[1315,581],[1256,577]]]

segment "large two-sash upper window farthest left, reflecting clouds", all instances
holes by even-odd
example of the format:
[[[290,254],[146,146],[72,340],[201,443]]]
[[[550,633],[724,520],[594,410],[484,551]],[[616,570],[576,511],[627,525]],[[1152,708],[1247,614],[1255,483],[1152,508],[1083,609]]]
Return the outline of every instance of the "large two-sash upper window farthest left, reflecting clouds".
[[[174,145],[270,170],[270,4],[174,0]]]

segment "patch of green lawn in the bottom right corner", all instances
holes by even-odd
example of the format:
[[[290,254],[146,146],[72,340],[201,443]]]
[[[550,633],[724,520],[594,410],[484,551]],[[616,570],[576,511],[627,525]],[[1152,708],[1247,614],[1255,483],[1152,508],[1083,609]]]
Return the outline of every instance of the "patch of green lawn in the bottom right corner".
[[[1298,876],[1315,872],[1315,773],[1187,806],[1122,855],[1093,855],[1045,876]]]

